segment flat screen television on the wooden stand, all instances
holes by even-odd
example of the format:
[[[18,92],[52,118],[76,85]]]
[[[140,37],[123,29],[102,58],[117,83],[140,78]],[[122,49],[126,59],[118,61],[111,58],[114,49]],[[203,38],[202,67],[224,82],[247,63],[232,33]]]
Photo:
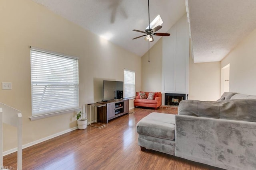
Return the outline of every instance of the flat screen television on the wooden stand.
[[[103,80],[103,101],[123,98],[124,82]]]

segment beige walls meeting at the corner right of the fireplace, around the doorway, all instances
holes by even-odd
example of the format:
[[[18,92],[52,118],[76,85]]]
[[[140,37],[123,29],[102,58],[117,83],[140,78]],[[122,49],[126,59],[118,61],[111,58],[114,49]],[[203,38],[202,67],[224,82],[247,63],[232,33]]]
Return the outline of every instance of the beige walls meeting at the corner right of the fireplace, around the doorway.
[[[256,29],[236,45],[221,62],[194,64],[190,59],[189,99],[218,99],[221,95],[220,70],[227,64],[230,64],[229,91],[256,95],[255,44]]]

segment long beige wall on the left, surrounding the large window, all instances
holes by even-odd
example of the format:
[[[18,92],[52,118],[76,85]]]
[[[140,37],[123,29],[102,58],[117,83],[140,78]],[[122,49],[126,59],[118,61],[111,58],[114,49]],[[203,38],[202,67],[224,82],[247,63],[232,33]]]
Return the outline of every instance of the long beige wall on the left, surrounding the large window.
[[[103,80],[124,80],[124,68],[135,70],[141,89],[141,58],[50,12],[31,0],[0,1],[0,102],[23,115],[23,145],[76,127],[75,113],[36,121],[31,116],[30,48],[34,46],[79,58],[79,100],[102,100]],[[17,147],[16,129],[4,126],[4,151]]]

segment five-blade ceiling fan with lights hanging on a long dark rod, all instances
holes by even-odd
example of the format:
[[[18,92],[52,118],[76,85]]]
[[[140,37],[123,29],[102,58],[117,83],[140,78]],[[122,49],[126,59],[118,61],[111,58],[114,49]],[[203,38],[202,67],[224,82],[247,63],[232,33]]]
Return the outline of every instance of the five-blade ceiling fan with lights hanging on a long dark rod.
[[[158,31],[159,29],[161,29],[162,26],[161,25],[158,25],[156,27],[154,27],[153,29],[150,28],[150,20],[149,20],[149,0],[148,0],[148,29],[146,29],[145,31],[140,31],[140,30],[137,30],[137,29],[133,29],[132,31],[137,31],[137,32],[140,32],[140,33],[145,33],[145,35],[141,35],[139,37],[135,37],[133,39],[137,39],[137,38],[140,38],[140,37],[145,37],[145,40],[148,40],[149,42],[152,42],[154,41],[154,38],[153,38],[153,35],[158,35],[158,36],[170,36],[169,33],[156,33],[156,31]]]

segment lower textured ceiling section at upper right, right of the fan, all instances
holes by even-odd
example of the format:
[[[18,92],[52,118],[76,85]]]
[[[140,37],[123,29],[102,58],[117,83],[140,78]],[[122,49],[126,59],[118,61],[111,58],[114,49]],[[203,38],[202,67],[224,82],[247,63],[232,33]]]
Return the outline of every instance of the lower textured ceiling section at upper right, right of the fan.
[[[221,61],[256,28],[256,0],[188,0],[194,63]]]

